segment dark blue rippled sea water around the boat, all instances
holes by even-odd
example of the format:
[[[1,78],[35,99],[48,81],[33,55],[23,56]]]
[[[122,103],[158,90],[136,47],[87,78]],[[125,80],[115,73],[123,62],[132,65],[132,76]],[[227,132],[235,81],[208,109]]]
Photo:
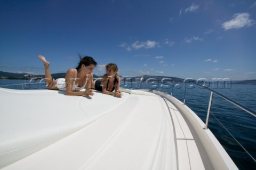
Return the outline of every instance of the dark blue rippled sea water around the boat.
[[[24,90],[46,89],[45,82],[40,82],[39,80],[0,80],[0,85],[20,83],[25,83],[25,85],[23,85],[23,87],[21,85],[4,87],[13,89],[23,88]],[[191,87],[191,85],[187,86],[185,83],[175,85],[171,83],[161,84],[161,82],[156,81],[126,82],[122,83],[121,87],[158,90],[174,96],[181,102],[184,102],[185,99],[185,104],[190,107],[203,122],[206,120],[211,92],[205,88],[199,86]],[[207,87],[256,111],[256,85],[230,84],[227,86],[215,86],[214,84],[210,84]],[[208,127],[220,141],[223,148],[226,149],[239,169],[256,169],[255,160],[248,156],[231,136],[233,135],[247,152],[256,158],[256,117],[223,100],[218,95],[213,94]],[[226,129],[228,129],[229,132],[227,132]],[[229,133],[231,133],[231,135]]]

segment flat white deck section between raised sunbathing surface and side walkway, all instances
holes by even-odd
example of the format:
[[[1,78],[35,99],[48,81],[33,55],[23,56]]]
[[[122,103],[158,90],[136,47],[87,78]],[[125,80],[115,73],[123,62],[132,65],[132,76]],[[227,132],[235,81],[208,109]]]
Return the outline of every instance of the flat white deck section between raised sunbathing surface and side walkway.
[[[176,162],[171,127],[155,96],[130,95],[97,121],[4,169],[170,169]]]

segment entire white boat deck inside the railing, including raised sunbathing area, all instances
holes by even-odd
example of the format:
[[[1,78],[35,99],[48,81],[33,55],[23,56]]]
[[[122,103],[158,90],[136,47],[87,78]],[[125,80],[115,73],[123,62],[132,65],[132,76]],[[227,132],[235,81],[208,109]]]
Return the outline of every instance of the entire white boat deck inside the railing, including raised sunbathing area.
[[[138,93],[0,88],[0,168],[205,169],[177,108]]]

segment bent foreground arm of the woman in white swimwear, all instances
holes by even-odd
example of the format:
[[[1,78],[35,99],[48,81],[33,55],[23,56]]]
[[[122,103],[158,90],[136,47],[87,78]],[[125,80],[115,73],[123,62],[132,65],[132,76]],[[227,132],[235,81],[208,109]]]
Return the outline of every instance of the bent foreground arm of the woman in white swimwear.
[[[75,81],[74,69],[68,69],[65,78],[66,78],[66,95],[93,95],[93,91],[91,89],[86,89],[86,91],[82,91],[82,92],[72,91],[72,87]]]

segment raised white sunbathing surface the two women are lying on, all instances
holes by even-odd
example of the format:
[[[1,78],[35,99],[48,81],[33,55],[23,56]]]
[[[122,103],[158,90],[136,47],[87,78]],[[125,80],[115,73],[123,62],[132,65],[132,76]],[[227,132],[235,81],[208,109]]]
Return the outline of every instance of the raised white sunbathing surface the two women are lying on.
[[[127,93],[119,99],[97,92],[83,97],[60,91],[4,88],[0,93],[0,167],[90,124],[129,97]]]

